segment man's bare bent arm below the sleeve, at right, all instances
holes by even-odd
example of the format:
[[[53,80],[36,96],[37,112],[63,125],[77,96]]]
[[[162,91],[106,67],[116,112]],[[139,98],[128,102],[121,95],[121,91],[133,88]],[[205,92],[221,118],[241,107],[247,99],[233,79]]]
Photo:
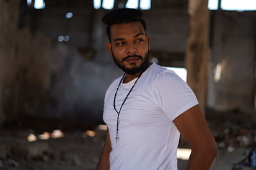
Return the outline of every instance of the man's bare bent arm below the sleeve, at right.
[[[191,147],[187,170],[210,169],[218,153],[215,140],[198,105],[173,120]]]

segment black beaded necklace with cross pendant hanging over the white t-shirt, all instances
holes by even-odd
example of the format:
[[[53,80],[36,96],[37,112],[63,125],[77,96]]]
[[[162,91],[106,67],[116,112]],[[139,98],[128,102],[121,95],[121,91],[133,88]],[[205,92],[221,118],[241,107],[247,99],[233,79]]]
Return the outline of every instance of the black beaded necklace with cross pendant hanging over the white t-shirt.
[[[143,71],[142,71],[142,73],[143,73]],[[140,74],[140,76],[142,75],[142,73]],[[137,83],[137,81],[139,80],[140,76],[138,76],[137,80],[136,80],[135,83],[132,85],[132,88],[129,90],[127,96],[125,97],[125,99],[124,99],[124,101],[123,101],[123,103],[122,103],[122,105],[121,105],[119,111],[116,110],[116,94],[117,94],[117,91],[118,91],[118,89],[119,89],[119,87],[120,87],[122,81],[123,81],[124,78],[125,78],[125,74],[124,74],[124,76],[122,76],[122,78],[121,78],[121,80],[120,80],[120,82],[119,82],[119,84],[118,84],[118,87],[117,87],[117,89],[116,89],[116,93],[115,93],[115,97],[114,97],[114,101],[113,101],[114,109],[115,109],[115,111],[116,111],[116,113],[117,113],[117,115],[118,115],[118,116],[117,116],[117,120],[116,120],[116,138],[115,138],[115,139],[116,139],[116,143],[118,143],[118,139],[119,139],[119,136],[118,136],[118,124],[119,124],[119,115],[120,115],[120,111],[121,111],[122,107],[124,106],[124,103],[125,103],[127,97],[129,96],[129,94],[131,93],[131,91],[132,91],[134,85],[135,85],[135,84]]]

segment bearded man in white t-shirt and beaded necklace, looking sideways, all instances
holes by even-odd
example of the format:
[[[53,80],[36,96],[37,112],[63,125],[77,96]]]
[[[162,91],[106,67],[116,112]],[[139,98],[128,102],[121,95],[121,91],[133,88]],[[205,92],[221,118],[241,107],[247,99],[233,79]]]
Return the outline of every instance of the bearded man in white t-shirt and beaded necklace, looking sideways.
[[[211,131],[188,85],[149,62],[142,12],[113,10],[102,22],[108,25],[108,51],[125,74],[106,92],[108,131],[97,169],[175,170],[180,134],[192,149],[187,169],[210,169],[217,154]]]

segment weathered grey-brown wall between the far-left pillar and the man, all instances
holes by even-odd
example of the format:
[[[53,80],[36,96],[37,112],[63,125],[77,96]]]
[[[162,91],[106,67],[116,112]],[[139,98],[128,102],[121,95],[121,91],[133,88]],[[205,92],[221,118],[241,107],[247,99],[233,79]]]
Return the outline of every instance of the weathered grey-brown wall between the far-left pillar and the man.
[[[104,92],[119,73],[115,67],[86,61],[74,48],[32,37],[28,29],[19,33],[19,112],[100,120]]]

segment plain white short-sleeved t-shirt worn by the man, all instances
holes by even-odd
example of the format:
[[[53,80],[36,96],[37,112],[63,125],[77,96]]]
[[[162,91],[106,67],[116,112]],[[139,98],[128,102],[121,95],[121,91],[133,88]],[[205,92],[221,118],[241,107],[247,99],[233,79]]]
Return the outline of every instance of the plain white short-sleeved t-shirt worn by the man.
[[[119,111],[136,81],[121,83],[116,95]],[[112,150],[111,170],[175,170],[180,133],[173,120],[198,104],[195,94],[174,71],[153,63],[141,75],[120,111],[116,143],[113,99],[121,77],[109,86],[104,101],[104,122],[108,125]]]

